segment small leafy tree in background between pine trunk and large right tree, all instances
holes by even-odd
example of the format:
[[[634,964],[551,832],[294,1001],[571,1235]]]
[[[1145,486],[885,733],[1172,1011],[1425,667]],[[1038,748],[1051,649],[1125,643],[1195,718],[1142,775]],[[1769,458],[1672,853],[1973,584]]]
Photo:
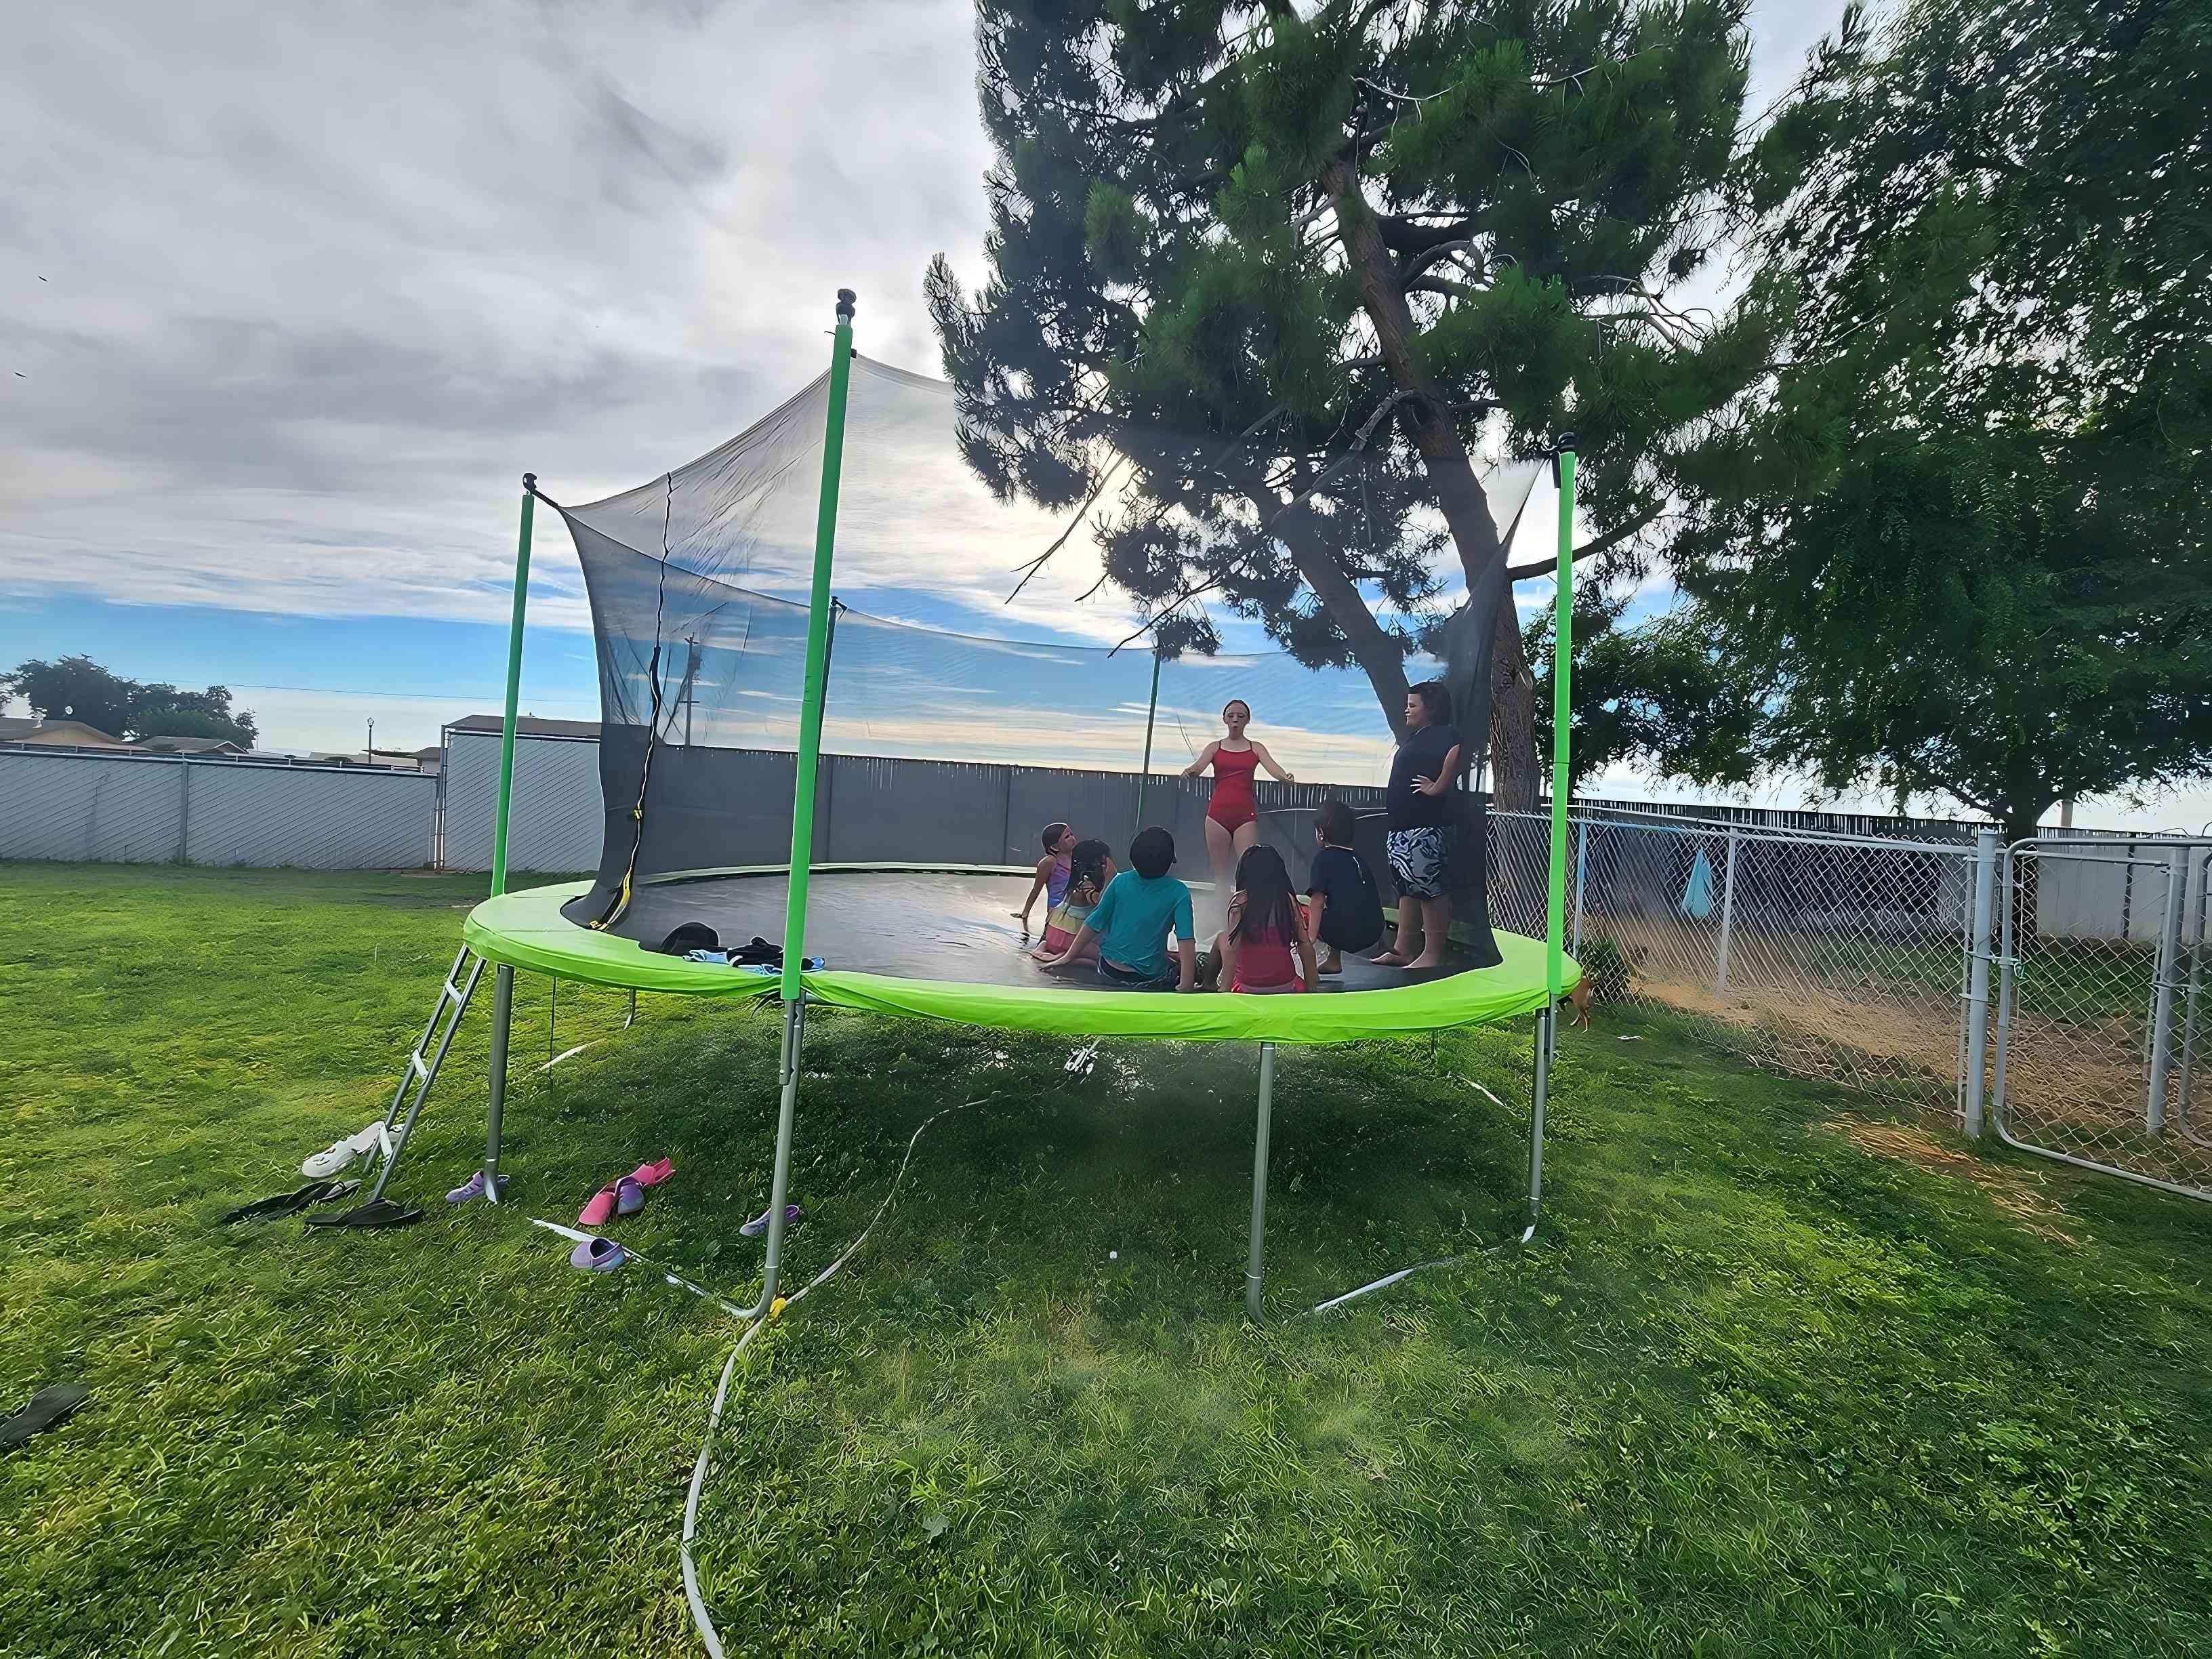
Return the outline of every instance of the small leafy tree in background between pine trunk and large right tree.
[[[1568,790],[1610,765],[1705,787],[1752,783],[1765,765],[1767,686],[1697,606],[1621,626],[1626,599],[1575,593]],[[1557,606],[1528,619],[1535,730],[1551,748],[1551,633]]]

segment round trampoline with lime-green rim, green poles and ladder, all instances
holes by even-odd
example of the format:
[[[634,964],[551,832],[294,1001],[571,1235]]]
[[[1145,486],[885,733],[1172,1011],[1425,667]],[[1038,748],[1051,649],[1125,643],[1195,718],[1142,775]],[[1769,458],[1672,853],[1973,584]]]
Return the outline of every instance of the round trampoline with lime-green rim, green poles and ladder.
[[[1416,975],[1345,953],[1340,978],[1325,978],[1307,995],[1159,993],[1104,989],[1088,969],[1051,973],[1029,958],[1031,938],[1015,922],[1033,880],[1026,865],[998,860],[916,858],[836,860],[823,856],[816,823],[825,706],[832,703],[832,657],[838,666],[836,708],[867,701],[872,675],[880,681],[880,710],[905,714],[933,684],[931,666],[911,639],[898,648],[880,633],[858,630],[830,595],[832,549],[841,533],[838,493],[847,449],[847,394],[852,352],[852,294],[838,294],[832,367],[814,387],[728,445],[653,484],[586,507],[560,507],[524,476],[522,538],[515,560],[513,628],[507,664],[507,728],[493,830],[491,898],[462,925],[462,947],[438,993],[429,1024],[400,1075],[385,1115],[389,1150],[372,1199],[383,1197],[438,1066],[469,1006],[484,967],[493,967],[491,1077],[484,1128],[484,1188],[498,1203],[500,1130],[507,1097],[507,1051],[513,1013],[513,975],[546,973],[613,989],[706,995],[774,998],[783,1006],[779,1060],[776,1150],[768,1197],[768,1250],[757,1318],[776,1307],[783,1267],[783,1221],[799,1102],[801,1046],[810,1006],[880,1015],[947,1020],[973,1026],[1037,1031],[1068,1037],[1164,1037],[1181,1042],[1259,1044],[1259,1102],[1252,1152],[1252,1225],[1245,1265],[1245,1305],[1259,1318],[1265,1248],[1267,1141],[1272,1121],[1274,1051],[1279,1044],[1343,1044],[1407,1037],[1455,1026],[1535,1015],[1533,1097],[1528,1113],[1526,1243],[1542,1203],[1544,1108],[1548,1099],[1555,1011],[1577,978],[1562,945],[1562,887],[1566,867],[1566,639],[1571,560],[1562,568],[1562,626],[1555,650],[1555,790],[1548,867],[1548,938],[1493,931],[1486,911],[1486,825],[1482,796],[1458,792],[1462,858],[1453,865],[1460,909],[1453,940],[1460,951],[1440,971]],[[863,429],[885,453],[911,451],[916,420],[900,396],[940,396],[942,387],[858,361],[883,403],[869,405]],[[949,398],[942,398],[949,409]],[[925,405],[936,407],[936,405]],[[821,418],[814,420],[818,409]],[[891,416],[880,414],[891,409]],[[902,411],[902,414],[900,414]],[[894,418],[896,416],[896,418]],[[889,434],[889,436],[885,436]],[[925,434],[927,436],[927,434]],[[947,451],[951,429],[947,420]],[[1157,438],[1133,442],[1150,442]],[[807,487],[807,465],[818,453],[818,489]],[[1553,458],[1559,482],[1559,538],[1573,520],[1571,440]],[[878,493],[898,495],[896,473]],[[1522,495],[1524,500],[1524,495]],[[529,591],[533,504],[562,515],[591,595],[599,661],[602,741],[599,783],[606,810],[599,872],[588,883],[509,891],[509,812],[513,734]],[[792,535],[794,507],[812,518],[807,604],[776,599],[741,586],[734,575]],[[1493,507],[1495,511],[1495,507]],[[1513,513],[1517,515],[1517,507]],[[863,533],[874,520],[860,513]],[[1511,524],[1500,524],[1511,533]],[[845,624],[843,630],[838,624]],[[1491,617],[1475,615],[1480,639]],[[1048,646],[958,639],[945,653],[969,657],[1051,661]],[[854,666],[858,657],[858,668]],[[1104,679],[1113,653],[1091,653],[1082,677]],[[1011,670],[1009,670],[1011,672]],[[1026,672],[1026,670],[1024,670]],[[1159,710],[1161,657],[1152,655],[1152,703],[1144,721],[1146,774],[1152,719]],[[936,679],[973,679],[938,670]],[[852,688],[858,690],[852,690]],[[964,686],[962,695],[984,692]],[[1110,701],[1110,695],[1108,695]],[[768,710],[763,714],[763,710]],[[1369,710],[1371,714],[1371,710]],[[796,726],[781,787],[759,783],[757,743],[763,719]],[[878,714],[878,726],[889,726]],[[860,730],[874,730],[867,721]],[[750,770],[748,770],[750,768]],[[787,796],[783,792],[787,790]],[[960,803],[940,807],[958,816]],[[914,807],[887,805],[885,812]],[[1296,812],[1285,810],[1296,827]],[[1004,841],[1013,818],[1009,774],[1004,818],[993,841]],[[1137,779],[1135,814],[1146,818],[1146,779]],[[1307,821],[1310,823],[1310,821]],[[940,838],[949,830],[938,825]],[[1383,876],[1380,823],[1363,821],[1367,863]],[[1292,845],[1281,825],[1270,838]],[[927,838],[900,825],[907,841]],[[1312,836],[1305,836],[1307,845]],[[832,843],[834,845],[834,843]],[[1203,843],[1199,843],[1203,845]],[[783,856],[761,856],[774,847]],[[787,852],[785,852],[787,849]],[[1121,847],[1115,847],[1119,858]],[[1197,847],[1186,845],[1186,865]],[[1294,876],[1303,865],[1292,865]],[[1197,874],[1183,869],[1179,874]],[[1194,894],[1208,883],[1192,880]],[[1303,885],[1303,883],[1301,883]],[[1394,911],[1387,911],[1394,914]],[[1203,902],[1201,902],[1203,916]],[[761,936],[783,947],[781,969],[739,969],[690,960],[657,949],[684,922],[712,927],[726,947]],[[1201,922],[1201,947],[1206,942]],[[803,958],[823,958],[816,971]]]

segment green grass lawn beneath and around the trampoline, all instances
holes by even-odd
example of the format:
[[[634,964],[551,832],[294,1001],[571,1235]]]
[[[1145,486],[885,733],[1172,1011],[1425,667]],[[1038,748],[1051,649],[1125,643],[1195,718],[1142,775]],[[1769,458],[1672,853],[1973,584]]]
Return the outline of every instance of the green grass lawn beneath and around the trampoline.
[[[0,1409],[93,1389],[0,1458],[0,1655],[697,1650],[734,1329],[522,1214],[668,1152],[624,1237],[748,1298],[774,1018],[648,1000],[538,1071],[524,978],[509,1210],[438,1203],[484,995],[396,1183],[427,1223],[215,1225],[383,1108],[478,889],[0,867]],[[562,1046],[619,1013],[564,991]],[[1301,1316],[1504,1237],[1526,1060],[1283,1051],[1254,1329],[1250,1048],[818,1015],[801,1276],[987,1104],[741,1363],[730,1650],[2212,1652],[2212,1208],[1599,1011],[1546,1237]]]

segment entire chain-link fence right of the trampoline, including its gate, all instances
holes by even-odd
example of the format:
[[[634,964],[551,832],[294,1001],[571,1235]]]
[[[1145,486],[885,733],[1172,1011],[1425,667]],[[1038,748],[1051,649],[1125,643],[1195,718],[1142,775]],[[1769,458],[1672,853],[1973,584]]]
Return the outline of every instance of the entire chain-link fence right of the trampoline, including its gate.
[[[1551,818],[1491,816],[1491,916],[1542,936]],[[2212,836],[2002,852],[1721,821],[1568,821],[1568,945],[1604,1006],[1754,1064],[2212,1199]]]

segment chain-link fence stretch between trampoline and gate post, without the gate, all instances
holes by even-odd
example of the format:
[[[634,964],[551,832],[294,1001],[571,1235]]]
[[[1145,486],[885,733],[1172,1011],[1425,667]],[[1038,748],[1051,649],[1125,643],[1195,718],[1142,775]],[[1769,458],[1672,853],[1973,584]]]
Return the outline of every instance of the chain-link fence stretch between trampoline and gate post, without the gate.
[[[1491,823],[1493,918],[1542,936],[1551,821]],[[1955,1113],[1975,860],[1973,841],[1575,814],[1568,947],[1599,1020],[1683,1013],[1756,1064]]]

